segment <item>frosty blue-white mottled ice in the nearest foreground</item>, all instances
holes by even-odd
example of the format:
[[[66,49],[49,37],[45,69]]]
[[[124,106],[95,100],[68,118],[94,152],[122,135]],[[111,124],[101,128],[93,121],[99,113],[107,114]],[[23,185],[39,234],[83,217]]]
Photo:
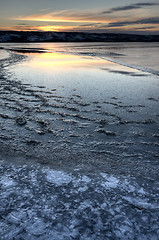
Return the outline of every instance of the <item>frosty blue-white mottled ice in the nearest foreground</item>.
[[[1,162],[1,239],[153,239],[159,184]]]

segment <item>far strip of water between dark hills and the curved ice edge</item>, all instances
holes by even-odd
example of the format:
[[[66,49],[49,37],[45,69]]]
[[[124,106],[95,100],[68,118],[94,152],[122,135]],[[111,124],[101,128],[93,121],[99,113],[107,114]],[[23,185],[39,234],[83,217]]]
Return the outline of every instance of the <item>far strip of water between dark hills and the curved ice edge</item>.
[[[93,55],[159,74],[159,43],[6,43],[0,46]]]

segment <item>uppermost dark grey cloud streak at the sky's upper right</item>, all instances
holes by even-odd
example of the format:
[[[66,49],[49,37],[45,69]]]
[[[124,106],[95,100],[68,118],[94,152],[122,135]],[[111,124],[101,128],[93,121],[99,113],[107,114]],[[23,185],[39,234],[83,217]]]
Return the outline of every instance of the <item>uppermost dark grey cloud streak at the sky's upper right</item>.
[[[151,6],[156,6],[156,5],[159,5],[159,4],[155,3],[155,2],[153,2],[153,3],[135,3],[135,4],[126,5],[123,7],[111,8],[108,11],[102,12],[102,14],[113,13],[113,12],[118,12],[118,11],[127,11],[127,10],[139,9],[139,8],[143,8],[143,7],[151,7]]]

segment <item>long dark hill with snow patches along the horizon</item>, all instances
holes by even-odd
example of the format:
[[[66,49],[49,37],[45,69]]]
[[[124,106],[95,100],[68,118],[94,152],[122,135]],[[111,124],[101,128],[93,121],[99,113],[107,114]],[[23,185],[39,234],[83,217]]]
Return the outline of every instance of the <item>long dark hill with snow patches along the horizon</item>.
[[[0,31],[0,42],[159,42],[159,35]]]

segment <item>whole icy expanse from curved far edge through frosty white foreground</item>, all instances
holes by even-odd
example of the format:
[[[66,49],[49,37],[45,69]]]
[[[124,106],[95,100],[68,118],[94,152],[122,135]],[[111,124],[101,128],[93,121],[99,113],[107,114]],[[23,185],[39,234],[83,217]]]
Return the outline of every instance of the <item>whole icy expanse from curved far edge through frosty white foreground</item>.
[[[157,239],[158,77],[57,52],[0,65],[3,239]]]

